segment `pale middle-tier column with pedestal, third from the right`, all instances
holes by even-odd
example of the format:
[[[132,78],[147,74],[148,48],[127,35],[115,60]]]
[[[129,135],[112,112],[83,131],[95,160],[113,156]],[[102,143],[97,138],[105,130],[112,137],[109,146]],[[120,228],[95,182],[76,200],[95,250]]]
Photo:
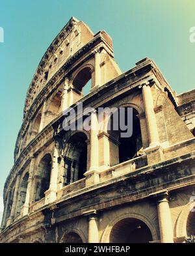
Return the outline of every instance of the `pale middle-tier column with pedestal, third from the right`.
[[[54,148],[53,152],[53,164],[51,167],[49,190],[45,192],[45,204],[55,201],[57,197],[57,182],[59,173],[59,152],[57,147]]]

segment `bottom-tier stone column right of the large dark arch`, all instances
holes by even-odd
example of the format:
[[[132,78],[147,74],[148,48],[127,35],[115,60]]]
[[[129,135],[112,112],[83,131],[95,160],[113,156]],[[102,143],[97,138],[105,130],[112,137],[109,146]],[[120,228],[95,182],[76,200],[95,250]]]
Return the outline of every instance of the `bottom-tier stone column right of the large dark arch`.
[[[173,243],[172,217],[168,203],[168,192],[161,193],[157,200],[161,243]]]

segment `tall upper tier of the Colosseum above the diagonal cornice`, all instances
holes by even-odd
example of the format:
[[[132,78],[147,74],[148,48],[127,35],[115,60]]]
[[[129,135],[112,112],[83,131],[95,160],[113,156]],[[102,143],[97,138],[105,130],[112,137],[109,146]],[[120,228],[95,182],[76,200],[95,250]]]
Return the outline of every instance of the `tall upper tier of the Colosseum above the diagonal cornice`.
[[[83,21],[72,17],[45,52],[32,78],[14,160],[60,112],[89,92],[88,87],[93,91],[121,73],[110,36],[105,31],[94,35]]]

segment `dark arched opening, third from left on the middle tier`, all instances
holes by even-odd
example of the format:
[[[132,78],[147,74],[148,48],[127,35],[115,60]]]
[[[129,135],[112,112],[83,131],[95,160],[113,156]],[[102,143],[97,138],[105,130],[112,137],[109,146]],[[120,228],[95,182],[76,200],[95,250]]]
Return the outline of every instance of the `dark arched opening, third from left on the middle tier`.
[[[45,154],[40,160],[36,175],[36,196],[35,201],[45,197],[45,191],[49,189],[51,175],[51,155]]]

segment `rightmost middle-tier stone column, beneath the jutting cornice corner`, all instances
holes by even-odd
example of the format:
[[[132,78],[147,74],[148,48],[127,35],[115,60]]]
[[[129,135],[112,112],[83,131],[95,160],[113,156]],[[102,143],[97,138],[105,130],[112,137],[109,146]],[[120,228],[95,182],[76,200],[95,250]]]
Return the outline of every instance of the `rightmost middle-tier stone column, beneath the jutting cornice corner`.
[[[159,134],[157,128],[157,122],[155,117],[155,111],[153,109],[153,97],[151,93],[151,87],[149,83],[142,85],[142,95],[144,99],[144,107],[146,113],[146,123],[149,136],[149,147],[155,147],[159,145]]]

